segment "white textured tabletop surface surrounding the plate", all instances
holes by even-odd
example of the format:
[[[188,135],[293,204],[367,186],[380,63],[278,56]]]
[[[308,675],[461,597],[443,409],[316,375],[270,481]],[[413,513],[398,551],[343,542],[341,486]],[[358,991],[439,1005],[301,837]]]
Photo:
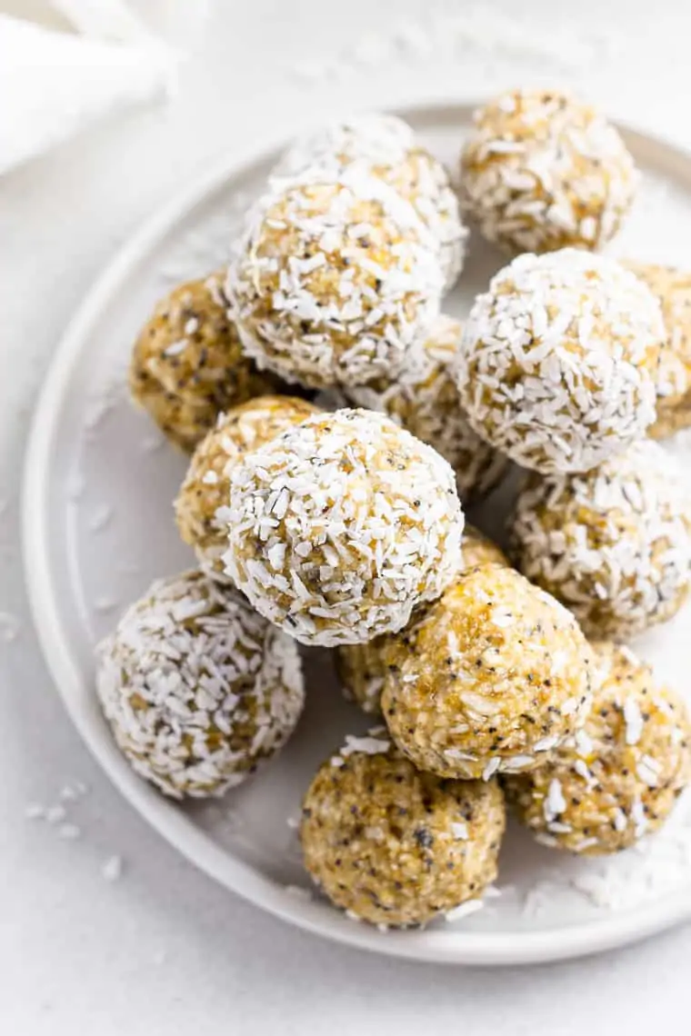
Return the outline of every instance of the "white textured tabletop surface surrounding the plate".
[[[121,801],[73,730],[31,630],[23,449],[51,353],[94,276],[209,159],[352,107],[569,82],[691,143],[688,0],[142,0],[193,50],[178,98],[103,123],[0,179],[0,1033],[570,1036],[688,1018],[691,930],[512,971],[361,956],[195,872]],[[198,25],[190,6],[206,6]],[[40,0],[0,9],[40,10]],[[595,16],[597,8],[598,15]],[[0,120],[2,98],[0,98]],[[25,816],[65,782],[81,837]],[[122,857],[119,882],[102,867]],[[681,1026],[684,1029],[684,1026]]]

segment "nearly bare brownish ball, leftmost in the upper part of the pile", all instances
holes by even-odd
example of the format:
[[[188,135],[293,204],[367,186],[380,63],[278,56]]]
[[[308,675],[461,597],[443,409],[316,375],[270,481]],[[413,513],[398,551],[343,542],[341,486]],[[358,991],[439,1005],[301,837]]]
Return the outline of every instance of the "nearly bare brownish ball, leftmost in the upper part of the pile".
[[[223,274],[179,285],[156,305],[129,364],[133,398],[166,436],[191,451],[219,413],[279,380],[242,352],[227,315]]]

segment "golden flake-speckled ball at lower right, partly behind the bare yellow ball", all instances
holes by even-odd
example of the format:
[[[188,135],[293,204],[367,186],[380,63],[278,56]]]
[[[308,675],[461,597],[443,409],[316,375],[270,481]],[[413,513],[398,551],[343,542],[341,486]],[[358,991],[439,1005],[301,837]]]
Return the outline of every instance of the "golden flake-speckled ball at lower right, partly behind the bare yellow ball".
[[[510,802],[541,842],[585,856],[660,828],[691,779],[684,699],[628,648],[596,643],[602,684],[585,726],[539,770],[508,777]]]

